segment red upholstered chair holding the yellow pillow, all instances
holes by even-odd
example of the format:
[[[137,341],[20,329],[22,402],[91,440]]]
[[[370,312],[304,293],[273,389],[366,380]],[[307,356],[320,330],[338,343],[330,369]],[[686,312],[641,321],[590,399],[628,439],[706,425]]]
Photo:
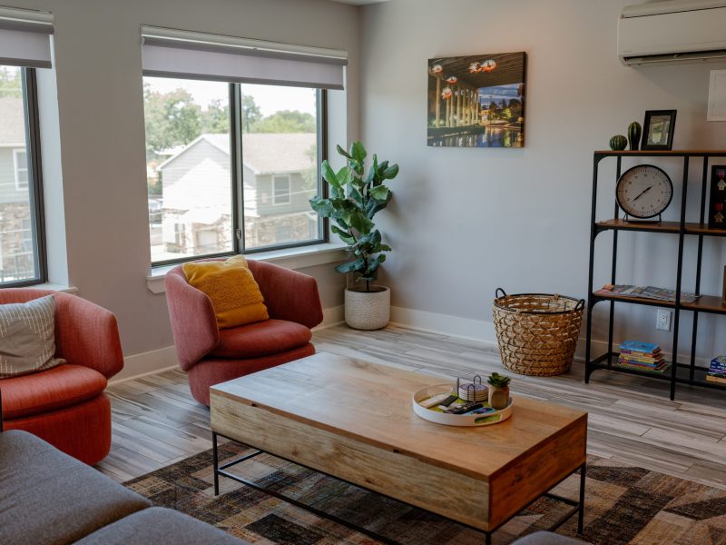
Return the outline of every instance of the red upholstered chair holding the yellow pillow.
[[[221,260],[202,260],[221,261]],[[166,273],[166,302],[179,365],[191,395],[210,404],[210,386],[315,353],[310,328],[323,319],[318,282],[271,263],[248,261],[270,320],[220,330],[210,298],[191,287],[182,266]]]

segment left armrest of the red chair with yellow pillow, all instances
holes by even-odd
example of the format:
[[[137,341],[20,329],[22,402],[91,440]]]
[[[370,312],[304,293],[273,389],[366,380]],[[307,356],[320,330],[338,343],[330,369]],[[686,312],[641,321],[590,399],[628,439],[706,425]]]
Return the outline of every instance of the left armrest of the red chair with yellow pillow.
[[[179,365],[189,371],[220,342],[217,316],[210,298],[189,285],[181,266],[167,272],[164,283]]]

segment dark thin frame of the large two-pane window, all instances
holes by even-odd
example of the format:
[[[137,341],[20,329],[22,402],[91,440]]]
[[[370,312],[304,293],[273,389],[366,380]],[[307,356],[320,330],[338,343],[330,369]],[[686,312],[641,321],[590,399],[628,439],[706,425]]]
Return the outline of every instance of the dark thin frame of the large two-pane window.
[[[172,78],[183,80],[187,78]],[[284,86],[284,85],[279,85]],[[270,252],[288,248],[299,248],[329,242],[329,220],[320,218],[318,221],[318,237],[298,243],[280,243],[260,246],[259,248],[245,248],[244,242],[244,173],[242,167],[242,119],[241,119],[241,85],[229,84],[230,90],[230,190],[231,190],[231,252],[204,253],[195,256],[183,256],[177,259],[152,261],[153,267],[165,267],[189,263],[201,259],[213,259],[218,257],[229,257],[231,255],[248,255],[254,253]],[[317,142],[318,142],[318,191],[323,198],[328,197],[328,184],[322,179],[321,164],[328,157],[328,92],[325,89],[317,90],[318,109],[317,119]],[[289,181],[290,192],[292,191],[292,180]],[[274,191],[272,192],[272,203],[274,204]],[[292,202],[290,193],[289,203]],[[288,203],[285,203],[288,204]],[[280,204],[278,204],[280,205]],[[310,209],[312,212],[312,209]],[[151,256],[151,245],[150,245]]]

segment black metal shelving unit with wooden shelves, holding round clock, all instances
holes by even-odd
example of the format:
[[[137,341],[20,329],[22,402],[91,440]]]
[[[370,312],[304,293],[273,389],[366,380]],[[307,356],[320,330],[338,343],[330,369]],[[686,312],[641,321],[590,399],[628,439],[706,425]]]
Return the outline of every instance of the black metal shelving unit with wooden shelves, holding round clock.
[[[660,222],[660,223],[628,223],[620,218],[620,207],[615,203],[613,219],[605,221],[597,221],[597,183],[600,162],[608,157],[614,157],[615,180],[620,178],[623,166],[623,157],[681,157],[683,160],[683,178],[681,187],[681,215],[678,222]],[[706,367],[696,365],[696,339],[698,334],[698,319],[701,313],[726,314],[726,304],[724,304],[721,296],[702,295],[701,294],[701,258],[703,255],[703,239],[705,237],[723,237],[726,236],[726,229],[711,229],[708,227],[706,219],[706,206],[708,205],[708,180],[709,167],[712,157],[726,158],[726,150],[680,150],[680,151],[597,151],[594,152],[593,164],[593,208],[592,221],[590,230],[590,272],[588,281],[588,299],[587,299],[587,346],[585,352],[585,383],[590,381],[590,376],[597,370],[609,370],[616,372],[624,372],[635,374],[649,379],[662,381],[670,381],[671,383],[671,399],[675,399],[676,384],[690,384],[702,386],[705,388],[714,388],[726,390],[726,384],[718,382],[710,382],[705,380],[705,374],[708,371]],[[702,163],[702,180],[701,180],[701,215],[698,223],[686,222],[686,205],[688,203],[688,173],[691,160],[700,160]],[[673,191],[677,191],[674,183]],[[614,193],[614,192],[613,192]],[[613,199],[614,200],[614,199]],[[644,233],[663,233],[664,235],[678,236],[678,264],[676,270],[676,296],[675,302],[662,302],[639,297],[626,297],[620,295],[602,295],[594,291],[594,255],[595,240],[597,235],[605,231],[613,231],[613,260],[611,270],[611,283],[615,283],[618,256],[618,234],[623,232],[644,232]],[[701,298],[695,302],[682,302],[682,272],[683,272],[683,248],[687,237],[698,238],[698,258],[696,261],[696,282],[694,293],[701,295]],[[593,358],[592,342],[593,342],[593,309],[598,302],[610,303],[610,314],[608,324],[608,347],[607,352]],[[670,370],[662,373],[639,371],[620,367],[616,364],[619,352],[613,351],[613,326],[614,326],[614,307],[615,302],[642,304],[647,306],[658,306],[673,309],[673,342],[672,342],[672,362]],[[678,362],[678,335],[681,319],[681,312],[693,312],[693,325],[691,333],[691,361]],[[615,362],[615,364],[613,364]]]

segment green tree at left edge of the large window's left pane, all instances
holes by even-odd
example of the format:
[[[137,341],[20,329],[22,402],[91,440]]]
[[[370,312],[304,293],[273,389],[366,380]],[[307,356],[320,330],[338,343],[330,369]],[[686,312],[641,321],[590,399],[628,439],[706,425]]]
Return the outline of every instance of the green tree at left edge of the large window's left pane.
[[[147,159],[162,150],[189,144],[201,134],[201,106],[194,104],[188,91],[159,93],[145,84],[143,103]]]

